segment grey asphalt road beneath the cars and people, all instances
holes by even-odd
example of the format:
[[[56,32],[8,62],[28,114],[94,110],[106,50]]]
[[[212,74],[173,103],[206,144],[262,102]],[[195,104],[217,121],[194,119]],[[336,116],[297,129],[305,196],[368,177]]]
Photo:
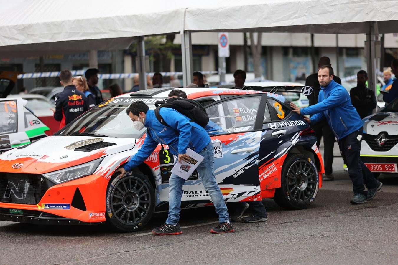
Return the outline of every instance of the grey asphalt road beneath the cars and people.
[[[335,152],[337,153],[337,152]],[[286,211],[264,200],[268,222],[234,222],[213,235],[214,208],[181,213],[183,234],[151,229],[115,234],[105,226],[40,226],[0,221],[0,264],[398,264],[398,176],[363,205],[351,205],[352,184],[335,158],[334,182],[324,182],[309,209]]]

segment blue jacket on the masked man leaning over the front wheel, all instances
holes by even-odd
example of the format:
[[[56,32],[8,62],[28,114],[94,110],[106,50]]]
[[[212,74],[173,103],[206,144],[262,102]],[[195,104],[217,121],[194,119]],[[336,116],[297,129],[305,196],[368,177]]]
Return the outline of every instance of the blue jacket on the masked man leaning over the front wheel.
[[[187,116],[172,108],[160,108],[160,116],[171,127],[162,125],[155,116],[154,110],[146,112],[146,137],[138,152],[123,166],[126,171],[138,166],[155,150],[158,143],[168,145],[170,153],[187,153],[189,147],[199,153],[211,141],[209,134],[202,126],[189,122]]]

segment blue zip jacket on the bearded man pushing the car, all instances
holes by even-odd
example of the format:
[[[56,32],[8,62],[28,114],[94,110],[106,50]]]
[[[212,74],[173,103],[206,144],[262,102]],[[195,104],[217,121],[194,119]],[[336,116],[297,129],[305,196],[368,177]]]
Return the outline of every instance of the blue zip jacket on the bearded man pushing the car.
[[[301,115],[311,115],[311,123],[316,124],[326,118],[337,139],[341,139],[363,127],[357,110],[351,103],[349,93],[334,80],[321,87],[318,103],[300,110]]]

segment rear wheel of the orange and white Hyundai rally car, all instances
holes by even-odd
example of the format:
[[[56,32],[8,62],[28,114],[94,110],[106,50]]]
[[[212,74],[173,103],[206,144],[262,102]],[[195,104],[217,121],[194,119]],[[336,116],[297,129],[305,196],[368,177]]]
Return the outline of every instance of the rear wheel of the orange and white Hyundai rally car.
[[[316,197],[319,174],[306,155],[291,154],[283,162],[281,188],[275,191],[275,202],[285,209],[307,208]]]

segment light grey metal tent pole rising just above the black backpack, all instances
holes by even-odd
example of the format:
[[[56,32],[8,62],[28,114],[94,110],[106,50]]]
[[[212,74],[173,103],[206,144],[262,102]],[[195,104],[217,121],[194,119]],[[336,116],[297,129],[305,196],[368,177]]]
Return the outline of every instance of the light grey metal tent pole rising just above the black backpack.
[[[190,32],[181,34],[181,55],[183,87],[187,87],[193,80],[192,39]]]

